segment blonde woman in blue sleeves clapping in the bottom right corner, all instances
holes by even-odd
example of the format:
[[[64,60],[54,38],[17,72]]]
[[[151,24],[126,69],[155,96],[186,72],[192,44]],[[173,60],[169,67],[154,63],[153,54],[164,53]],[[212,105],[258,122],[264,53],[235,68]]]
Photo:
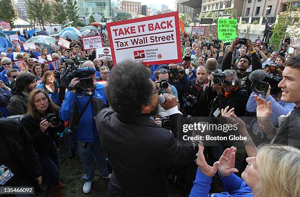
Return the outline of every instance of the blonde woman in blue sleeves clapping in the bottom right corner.
[[[290,146],[267,145],[255,157],[246,159],[248,166],[236,176],[236,148],[227,148],[219,161],[210,167],[199,146],[196,180],[190,197],[300,197],[300,150]],[[225,192],[208,195],[211,177],[218,171]]]

